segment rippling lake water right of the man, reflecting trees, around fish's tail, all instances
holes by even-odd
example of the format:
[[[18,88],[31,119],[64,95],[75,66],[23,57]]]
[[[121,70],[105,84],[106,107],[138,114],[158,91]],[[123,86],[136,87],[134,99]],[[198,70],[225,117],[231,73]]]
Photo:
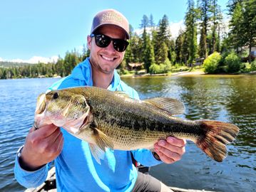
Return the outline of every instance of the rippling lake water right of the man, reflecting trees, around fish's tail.
[[[200,75],[189,77],[124,78],[141,99],[174,97],[185,105],[186,119],[216,119],[240,127],[227,146],[222,163],[209,159],[188,142],[187,153],[175,164],[153,167],[150,174],[170,186],[215,191],[253,191],[256,188],[256,77]]]

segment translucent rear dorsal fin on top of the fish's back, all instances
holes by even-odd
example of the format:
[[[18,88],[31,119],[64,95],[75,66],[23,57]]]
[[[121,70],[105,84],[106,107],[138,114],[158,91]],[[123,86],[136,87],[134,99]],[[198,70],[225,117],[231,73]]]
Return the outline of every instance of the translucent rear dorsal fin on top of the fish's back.
[[[153,105],[160,110],[168,112],[171,115],[183,114],[185,111],[183,102],[180,102],[179,100],[175,100],[169,97],[154,97],[147,100],[143,100],[143,102]]]

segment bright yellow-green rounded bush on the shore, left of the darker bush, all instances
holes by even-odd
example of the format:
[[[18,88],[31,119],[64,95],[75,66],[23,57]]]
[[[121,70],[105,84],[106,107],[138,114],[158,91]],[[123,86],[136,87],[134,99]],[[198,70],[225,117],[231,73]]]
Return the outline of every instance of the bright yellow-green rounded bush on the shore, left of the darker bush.
[[[220,53],[214,52],[213,54],[209,55],[208,58],[206,58],[203,62],[205,73],[216,73],[220,60]]]

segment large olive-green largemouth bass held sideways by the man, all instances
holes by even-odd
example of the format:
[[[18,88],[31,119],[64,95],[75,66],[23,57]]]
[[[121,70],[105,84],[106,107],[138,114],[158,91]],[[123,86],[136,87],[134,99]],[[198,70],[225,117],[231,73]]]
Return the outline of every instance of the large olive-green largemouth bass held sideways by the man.
[[[184,112],[183,103],[165,97],[133,100],[123,92],[98,87],[52,90],[38,97],[35,126],[55,124],[89,143],[100,162],[106,148],[153,149],[159,139],[190,139],[215,161],[227,156],[225,144],[239,129],[213,120],[190,121],[174,117]]]

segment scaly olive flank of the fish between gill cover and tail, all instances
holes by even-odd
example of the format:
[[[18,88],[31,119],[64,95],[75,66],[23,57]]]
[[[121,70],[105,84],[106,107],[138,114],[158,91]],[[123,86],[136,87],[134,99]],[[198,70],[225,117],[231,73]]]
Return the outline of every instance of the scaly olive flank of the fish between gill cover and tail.
[[[138,100],[123,99],[122,95],[108,95],[108,92],[103,95],[98,90],[82,92],[87,96],[86,100],[92,107],[99,129],[111,137],[118,148],[152,146],[158,139],[169,136],[196,139],[203,134],[194,122],[187,121],[185,124],[184,121]]]

